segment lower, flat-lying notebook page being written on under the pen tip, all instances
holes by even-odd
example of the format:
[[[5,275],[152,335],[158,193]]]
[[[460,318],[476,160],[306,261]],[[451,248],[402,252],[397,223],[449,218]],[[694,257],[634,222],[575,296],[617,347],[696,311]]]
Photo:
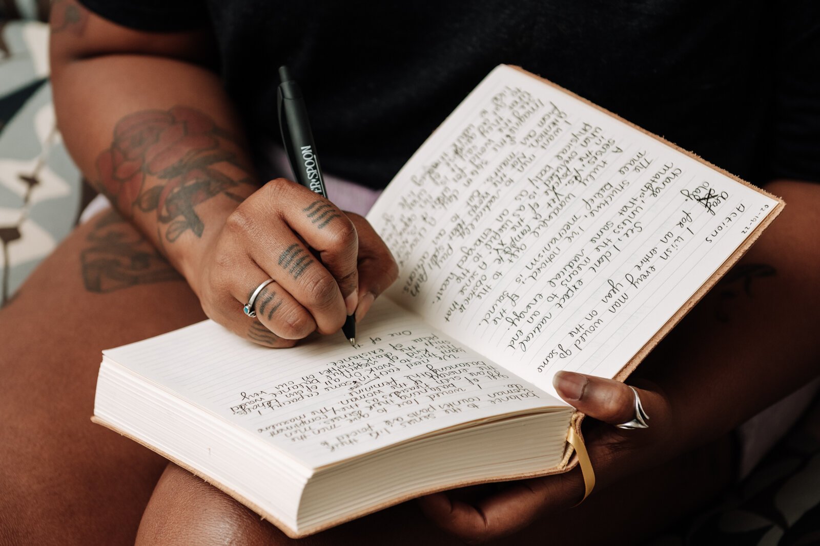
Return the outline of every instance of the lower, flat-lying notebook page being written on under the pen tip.
[[[211,321],[103,352],[308,467],[558,400],[380,299],[341,333],[272,350]]]

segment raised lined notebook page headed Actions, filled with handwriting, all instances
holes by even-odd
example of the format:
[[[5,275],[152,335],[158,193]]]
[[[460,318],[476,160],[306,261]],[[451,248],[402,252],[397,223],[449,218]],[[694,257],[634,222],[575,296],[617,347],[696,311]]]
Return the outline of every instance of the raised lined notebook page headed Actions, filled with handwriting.
[[[613,377],[776,205],[499,66],[368,219],[391,299],[554,394],[558,369]]]

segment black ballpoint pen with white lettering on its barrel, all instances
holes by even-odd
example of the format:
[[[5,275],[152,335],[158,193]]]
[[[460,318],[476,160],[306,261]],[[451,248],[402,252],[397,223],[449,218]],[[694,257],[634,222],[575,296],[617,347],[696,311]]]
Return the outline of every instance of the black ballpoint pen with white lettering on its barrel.
[[[279,115],[279,129],[282,143],[288,154],[290,168],[294,171],[296,182],[312,192],[327,198],[325,181],[321,176],[319,156],[310,122],[307,120],[307,108],[302,96],[302,89],[290,76],[287,66],[279,67],[279,88],[276,89],[276,111]],[[348,315],[342,327],[344,336],[350,345],[356,345],[356,314]]]

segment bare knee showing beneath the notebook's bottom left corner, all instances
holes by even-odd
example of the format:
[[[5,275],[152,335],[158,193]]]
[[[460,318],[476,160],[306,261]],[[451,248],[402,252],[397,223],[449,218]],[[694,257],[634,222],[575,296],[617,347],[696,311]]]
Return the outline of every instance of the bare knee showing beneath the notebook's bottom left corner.
[[[279,544],[279,530],[197,476],[168,464],[139,523],[136,544]]]

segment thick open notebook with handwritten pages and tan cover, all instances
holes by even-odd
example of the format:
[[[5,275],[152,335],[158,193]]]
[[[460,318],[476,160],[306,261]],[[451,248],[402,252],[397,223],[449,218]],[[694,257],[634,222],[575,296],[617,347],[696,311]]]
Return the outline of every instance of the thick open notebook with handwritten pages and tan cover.
[[[554,372],[626,377],[782,206],[502,65],[368,215],[400,274],[356,347],[194,324],[104,351],[94,419],[294,537],[565,472],[580,416]]]

